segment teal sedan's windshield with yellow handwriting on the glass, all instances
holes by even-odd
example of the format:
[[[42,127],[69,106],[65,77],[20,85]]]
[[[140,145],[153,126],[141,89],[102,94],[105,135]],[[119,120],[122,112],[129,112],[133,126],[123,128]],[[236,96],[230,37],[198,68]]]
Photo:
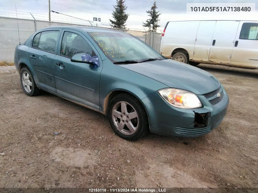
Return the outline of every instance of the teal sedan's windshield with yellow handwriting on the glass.
[[[138,63],[166,59],[130,34],[114,32],[89,32],[88,34],[113,63]]]

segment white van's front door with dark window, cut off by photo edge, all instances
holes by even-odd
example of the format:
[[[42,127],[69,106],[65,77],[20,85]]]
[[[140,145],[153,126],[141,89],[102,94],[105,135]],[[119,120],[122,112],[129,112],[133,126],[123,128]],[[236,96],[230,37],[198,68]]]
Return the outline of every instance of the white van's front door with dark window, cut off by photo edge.
[[[240,22],[230,64],[258,68],[258,22]]]

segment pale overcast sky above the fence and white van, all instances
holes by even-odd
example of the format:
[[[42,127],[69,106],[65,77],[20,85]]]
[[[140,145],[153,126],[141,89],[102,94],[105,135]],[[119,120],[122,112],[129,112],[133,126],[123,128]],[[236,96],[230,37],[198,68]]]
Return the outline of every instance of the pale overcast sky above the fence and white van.
[[[108,25],[109,19],[112,19],[111,13],[116,0],[50,0],[50,9],[69,16],[74,16],[84,20],[93,21],[93,16],[101,18],[101,25]],[[143,29],[142,22],[148,19],[146,10],[153,5],[154,0],[125,0],[129,13],[126,22],[130,29]],[[167,21],[174,20],[258,20],[258,0],[156,0],[158,11],[160,11],[161,27],[163,30]],[[238,15],[191,15],[186,13],[187,3],[256,3],[256,13],[242,13]],[[36,19],[48,20],[49,4],[48,0],[0,0],[0,16],[16,16],[15,5],[18,17],[33,19],[30,13]],[[65,15],[51,13],[51,20],[88,23],[83,20],[71,18]],[[99,23],[100,25],[100,23]]]

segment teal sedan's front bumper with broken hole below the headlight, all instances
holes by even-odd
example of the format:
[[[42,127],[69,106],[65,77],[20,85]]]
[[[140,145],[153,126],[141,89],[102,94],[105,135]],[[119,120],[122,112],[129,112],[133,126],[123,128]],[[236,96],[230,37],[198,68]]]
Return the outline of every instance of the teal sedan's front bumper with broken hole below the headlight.
[[[229,98],[222,87],[223,98],[215,105],[212,105],[207,98],[199,95],[203,104],[198,109],[179,109],[166,102],[158,92],[154,92],[142,99],[149,118],[150,131],[152,133],[180,136],[199,137],[211,132],[222,122],[227,113]],[[196,125],[196,115],[208,115],[205,125]]]

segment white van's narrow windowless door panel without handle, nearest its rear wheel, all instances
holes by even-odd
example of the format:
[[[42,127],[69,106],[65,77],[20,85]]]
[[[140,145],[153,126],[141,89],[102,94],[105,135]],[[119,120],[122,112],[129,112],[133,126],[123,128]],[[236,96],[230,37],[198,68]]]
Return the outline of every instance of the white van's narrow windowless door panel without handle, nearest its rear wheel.
[[[201,21],[198,27],[193,60],[208,62],[216,21]]]

